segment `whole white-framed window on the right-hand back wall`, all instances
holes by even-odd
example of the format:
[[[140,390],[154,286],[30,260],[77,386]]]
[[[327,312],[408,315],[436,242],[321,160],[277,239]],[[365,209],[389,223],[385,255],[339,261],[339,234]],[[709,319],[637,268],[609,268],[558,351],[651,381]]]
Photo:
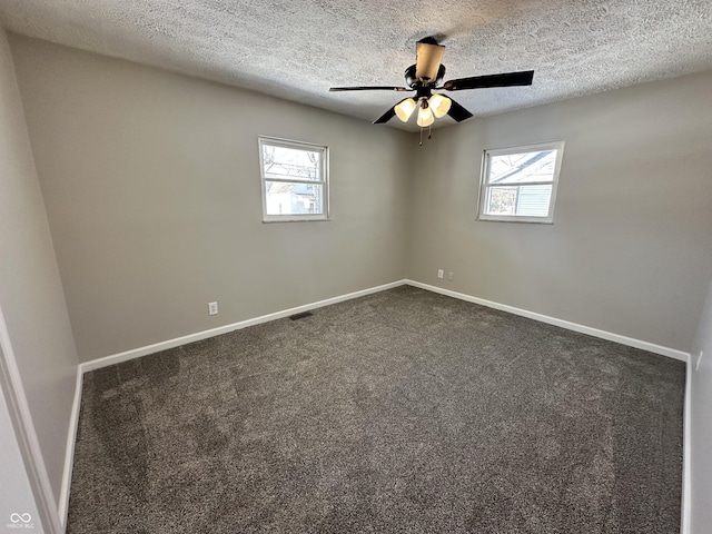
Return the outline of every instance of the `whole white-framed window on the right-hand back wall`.
[[[485,150],[481,220],[553,222],[564,142]]]

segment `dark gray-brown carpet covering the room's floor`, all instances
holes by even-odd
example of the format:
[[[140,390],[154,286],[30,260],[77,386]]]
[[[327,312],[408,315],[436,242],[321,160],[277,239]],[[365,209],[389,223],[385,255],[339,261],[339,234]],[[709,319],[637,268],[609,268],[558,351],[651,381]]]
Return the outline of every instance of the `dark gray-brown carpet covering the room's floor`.
[[[88,373],[68,532],[674,533],[684,373],[403,286]]]

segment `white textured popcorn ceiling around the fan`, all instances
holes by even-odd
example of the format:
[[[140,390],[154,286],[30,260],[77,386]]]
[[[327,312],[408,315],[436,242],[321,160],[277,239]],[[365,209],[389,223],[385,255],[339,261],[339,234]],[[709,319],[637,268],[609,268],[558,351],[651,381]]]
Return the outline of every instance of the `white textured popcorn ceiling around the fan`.
[[[446,46],[446,80],[535,70],[532,87],[451,93],[475,116],[712,69],[712,0],[0,0],[0,19],[366,120],[402,93],[328,88],[404,85],[429,34]]]

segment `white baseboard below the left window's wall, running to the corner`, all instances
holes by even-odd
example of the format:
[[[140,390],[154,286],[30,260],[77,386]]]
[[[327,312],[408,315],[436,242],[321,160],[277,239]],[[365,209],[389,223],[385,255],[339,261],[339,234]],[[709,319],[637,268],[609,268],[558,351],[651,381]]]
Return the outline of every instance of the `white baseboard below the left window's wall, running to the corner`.
[[[385,291],[386,289],[392,289],[394,287],[403,286],[405,284],[406,284],[406,280],[392,281],[390,284],[384,284],[383,286],[369,287],[368,289],[362,289],[360,291],[348,293],[346,295],[339,295],[338,297],[332,297],[325,300],[318,300],[316,303],[305,304],[303,306],[297,306],[295,308],[284,309],[281,312],[275,312],[274,314],[267,314],[260,317],[241,320],[239,323],[233,323],[230,325],[219,326],[217,328],[211,328],[209,330],[202,330],[195,334],[189,334],[187,336],[176,337],[175,339],[168,339],[166,342],[155,343],[152,345],[147,345],[145,347],[134,348],[131,350],[126,350],[123,353],[112,354],[110,356],[105,356],[102,358],[85,362],[83,364],[79,365],[79,368],[80,368],[80,372],[83,374],[89,370],[100,369],[101,367],[108,367],[110,365],[128,362],[129,359],[140,358],[141,356],[146,356],[149,354],[159,353],[161,350],[167,350],[169,348],[179,347],[180,345],[186,345],[188,343],[199,342],[201,339],[219,336],[221,334],[228,334],[234,330],[247,328],[248,326],[255,326],[255,325],[259,325],[261,323],[267,323],[269,320],[275,320],[275,319],[283,319],[285,317],[289,317],[290,315],[299,314],[301,312],[307,312],[309,309],[322,308],[324,306],[343,303],[344,300],[350,300],[353,298],[363,297],[366,295],[370,295],[373,293]]]

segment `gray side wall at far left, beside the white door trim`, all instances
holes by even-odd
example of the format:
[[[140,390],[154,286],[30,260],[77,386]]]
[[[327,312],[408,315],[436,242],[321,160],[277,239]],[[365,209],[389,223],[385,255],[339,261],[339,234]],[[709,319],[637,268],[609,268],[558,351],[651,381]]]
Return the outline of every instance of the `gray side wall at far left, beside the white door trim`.
[[[10,47],[2,28],[0,307],[55,498],[58,500],[75,395],[77,352]]]

